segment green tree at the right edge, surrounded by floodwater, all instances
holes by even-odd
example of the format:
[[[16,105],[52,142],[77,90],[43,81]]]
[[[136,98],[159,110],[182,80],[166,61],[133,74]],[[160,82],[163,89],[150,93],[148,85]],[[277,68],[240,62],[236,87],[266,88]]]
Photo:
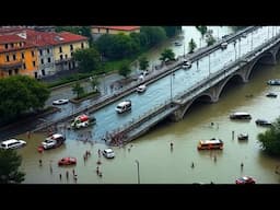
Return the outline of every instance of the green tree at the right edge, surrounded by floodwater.
[[[265,152],[271,155],[280,155],[280,117],[265,133],[259,133],[257,138]]]

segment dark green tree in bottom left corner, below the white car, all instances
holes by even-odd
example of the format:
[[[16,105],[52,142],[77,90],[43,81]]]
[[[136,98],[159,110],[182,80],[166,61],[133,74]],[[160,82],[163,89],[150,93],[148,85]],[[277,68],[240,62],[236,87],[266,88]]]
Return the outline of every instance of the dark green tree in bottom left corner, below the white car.
[[[15,150],[0,150],[0,184],[22,183],[25,173],[20,172],[22,163]]]

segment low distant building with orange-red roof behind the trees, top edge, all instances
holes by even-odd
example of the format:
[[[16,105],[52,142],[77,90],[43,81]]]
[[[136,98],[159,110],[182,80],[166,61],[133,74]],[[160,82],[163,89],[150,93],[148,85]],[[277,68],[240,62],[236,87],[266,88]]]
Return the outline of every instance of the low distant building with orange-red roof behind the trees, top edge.
[[[129,35],[130,33],[139,33],[140,26],[91,26],[93,35],[102,35],[102,34],[119,34],[124,33]]]

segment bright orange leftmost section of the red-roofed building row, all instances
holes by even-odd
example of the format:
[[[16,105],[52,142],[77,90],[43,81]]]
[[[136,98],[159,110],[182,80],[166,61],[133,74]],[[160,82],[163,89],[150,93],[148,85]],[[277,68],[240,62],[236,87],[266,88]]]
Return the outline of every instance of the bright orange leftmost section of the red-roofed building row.
[[[0,78],[14,74],[34,77],[37,68],[37,50],[26,42],[26,33],[0,35]]]

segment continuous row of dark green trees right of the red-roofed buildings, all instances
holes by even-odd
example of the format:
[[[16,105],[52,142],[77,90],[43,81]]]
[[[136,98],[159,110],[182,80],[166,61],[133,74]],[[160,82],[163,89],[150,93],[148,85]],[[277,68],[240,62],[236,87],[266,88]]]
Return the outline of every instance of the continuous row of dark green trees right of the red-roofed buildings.
[[[182,26],[141,26],[140,33],[105,34],[91,48],[75,51],[73,58],[79,61],[82,72],[98,73],[103,61],[137,57],[140,52],[159,45],[166,37],[176,35],[180,30]],[[72,32],[77,33],[77,28],[74,27]]]

